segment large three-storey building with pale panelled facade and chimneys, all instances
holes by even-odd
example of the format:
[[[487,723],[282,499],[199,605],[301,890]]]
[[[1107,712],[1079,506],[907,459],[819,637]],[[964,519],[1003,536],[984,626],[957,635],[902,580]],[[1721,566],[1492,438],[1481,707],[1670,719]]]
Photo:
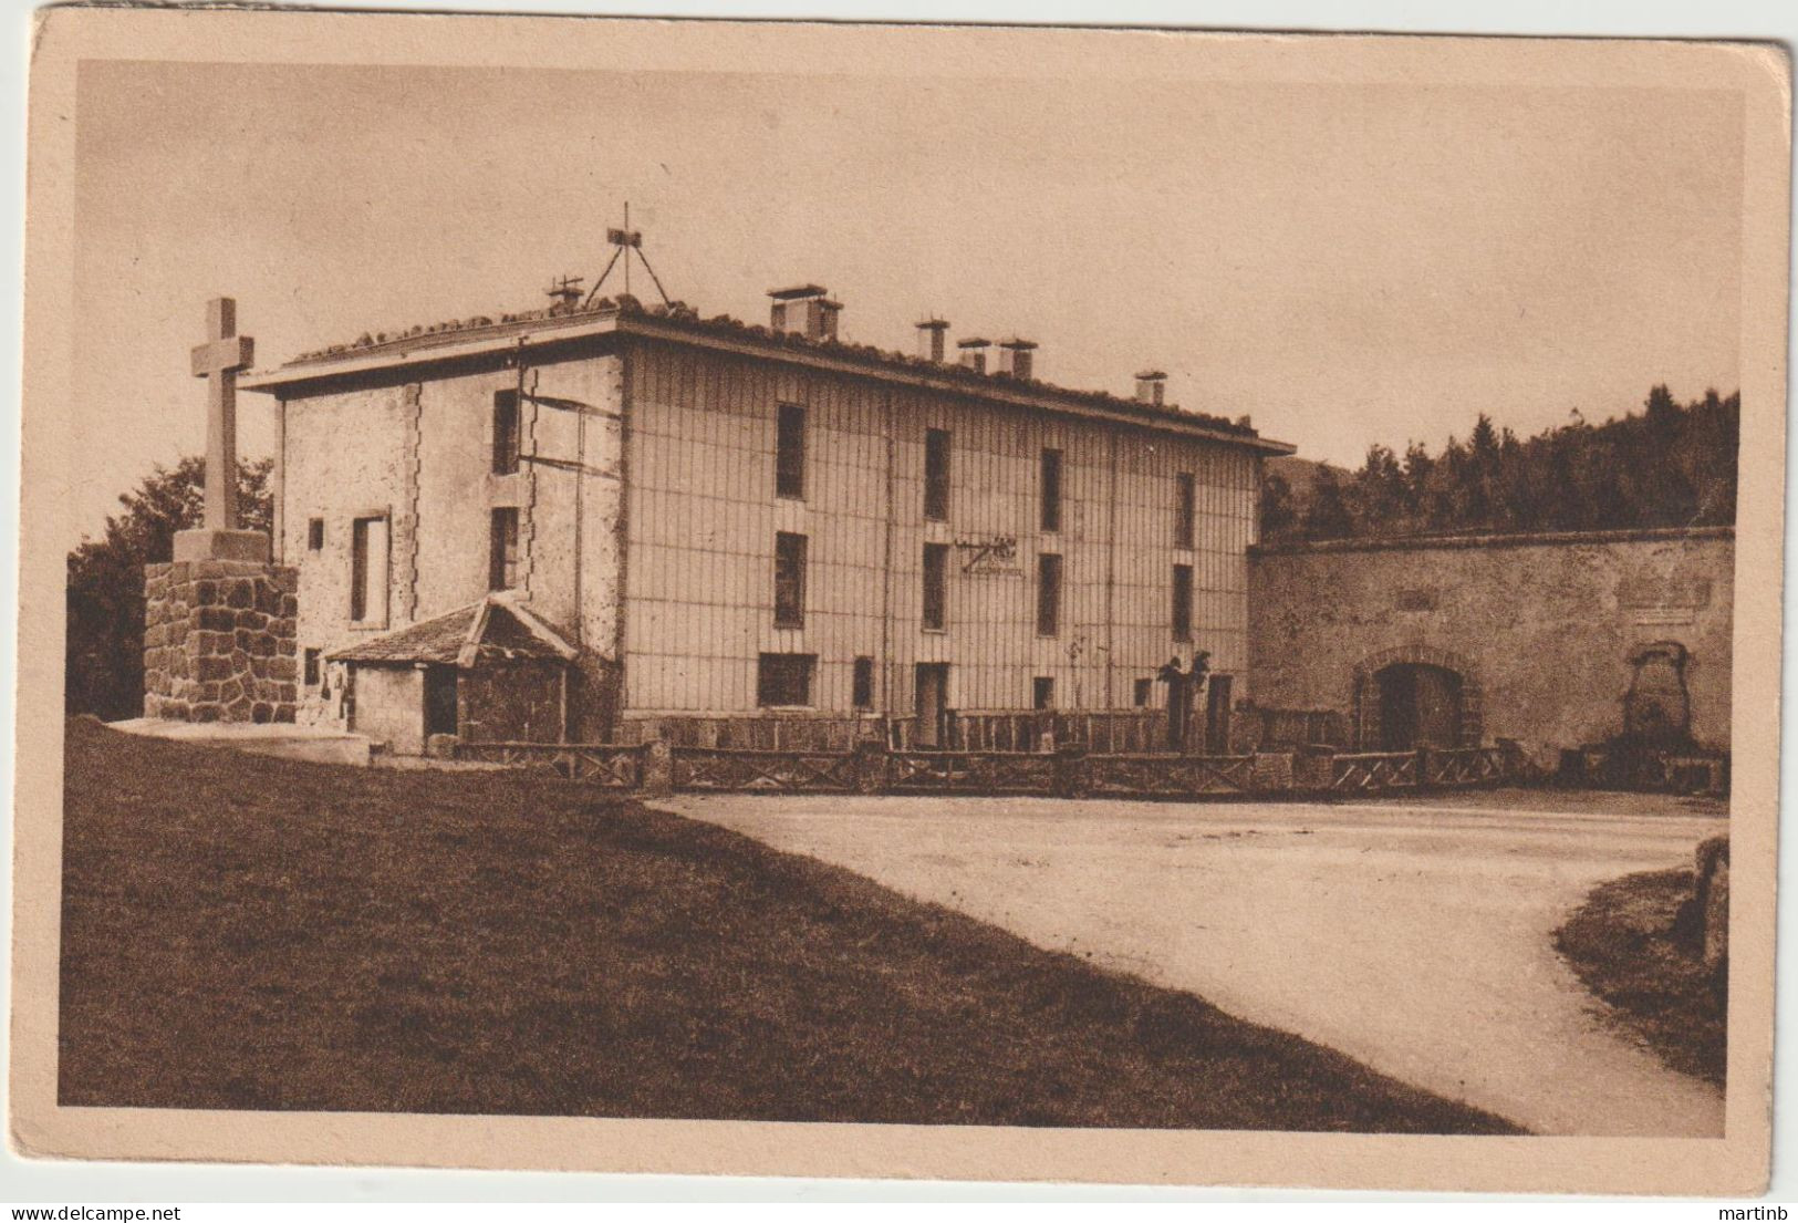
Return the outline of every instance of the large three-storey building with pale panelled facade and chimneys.
[[[306,354],[275,396],[300,718],[396,752],[633,723],[1126,710],[1208,651],[1248,696],[1246,419],[1034,376],[1036,345],[838,338],[566,293]]]

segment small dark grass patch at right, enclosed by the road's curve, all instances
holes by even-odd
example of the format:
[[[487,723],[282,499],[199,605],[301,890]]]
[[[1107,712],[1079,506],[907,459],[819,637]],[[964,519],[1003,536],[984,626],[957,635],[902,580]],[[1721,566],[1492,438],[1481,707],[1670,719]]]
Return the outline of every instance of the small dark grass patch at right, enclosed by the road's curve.
[[[1697,948],[1674,935],[1690,870],[1611,879],[1555,932],[1555,948],[1609,1016],[1674,1070],[1724,1085],[1728,1014]]]

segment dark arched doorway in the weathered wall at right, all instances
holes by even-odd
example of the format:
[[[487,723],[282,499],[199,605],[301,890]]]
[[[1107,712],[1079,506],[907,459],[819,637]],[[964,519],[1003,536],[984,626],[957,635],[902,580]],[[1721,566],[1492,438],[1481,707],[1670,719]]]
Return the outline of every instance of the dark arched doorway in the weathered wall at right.
[[[1370,655],[1354,671],[1356,746],[1478,746],[1485,732],[1480,698],[1473,664],[1455,651],[1401,646]]]

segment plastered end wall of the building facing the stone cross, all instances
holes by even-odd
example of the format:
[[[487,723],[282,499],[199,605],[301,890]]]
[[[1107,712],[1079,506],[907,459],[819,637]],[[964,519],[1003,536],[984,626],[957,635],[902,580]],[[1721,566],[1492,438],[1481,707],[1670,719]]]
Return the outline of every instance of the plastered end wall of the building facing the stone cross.
[[[498,475],[494,394],[520,385],[525,460]],[[279,558],[297,565],[306,585],[300,649],[331,653],[482,599],[489,514],[516,507],[516,590],[583,647],[572,719],[577,736],[604,737],[619,700],[620,360],[595,354],[523,374],[507,367],[318,390],[286,399],[284,414]],[[311,547],[315,518],[318,547]],[[387,617],[349,615],[356,518],[388,520]],[[336,689],[300,692],[304,719],[338,721],[327,692]]]

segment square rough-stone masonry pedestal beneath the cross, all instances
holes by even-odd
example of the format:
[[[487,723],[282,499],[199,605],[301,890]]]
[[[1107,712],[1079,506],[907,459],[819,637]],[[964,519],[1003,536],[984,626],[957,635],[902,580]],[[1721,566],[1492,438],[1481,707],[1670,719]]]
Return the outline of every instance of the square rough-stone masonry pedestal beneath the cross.
[[[144,716],[293,721],[298,570],[255,561],[144,567]]]

